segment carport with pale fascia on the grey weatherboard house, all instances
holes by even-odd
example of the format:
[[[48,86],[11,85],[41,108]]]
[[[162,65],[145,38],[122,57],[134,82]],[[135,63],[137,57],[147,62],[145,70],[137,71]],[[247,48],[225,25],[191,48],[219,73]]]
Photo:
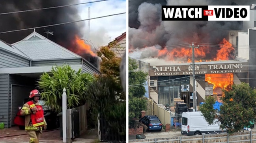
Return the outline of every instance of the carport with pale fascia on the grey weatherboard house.
[[[82,68],[81,65],[72,66],[72,69],[78,71]],[[50,67],[23,67],[23,68],[6,68],[1,69],[1,73],[9,73],[9,98],[8,104],[9,107],[9,127],[15,125],[13,120],[19,110],[19,107],[22,106],[24,99],[28,98],[30,91],[36,89],[37,82],[40,75],[43,72],[49,72],[52,69]]]

